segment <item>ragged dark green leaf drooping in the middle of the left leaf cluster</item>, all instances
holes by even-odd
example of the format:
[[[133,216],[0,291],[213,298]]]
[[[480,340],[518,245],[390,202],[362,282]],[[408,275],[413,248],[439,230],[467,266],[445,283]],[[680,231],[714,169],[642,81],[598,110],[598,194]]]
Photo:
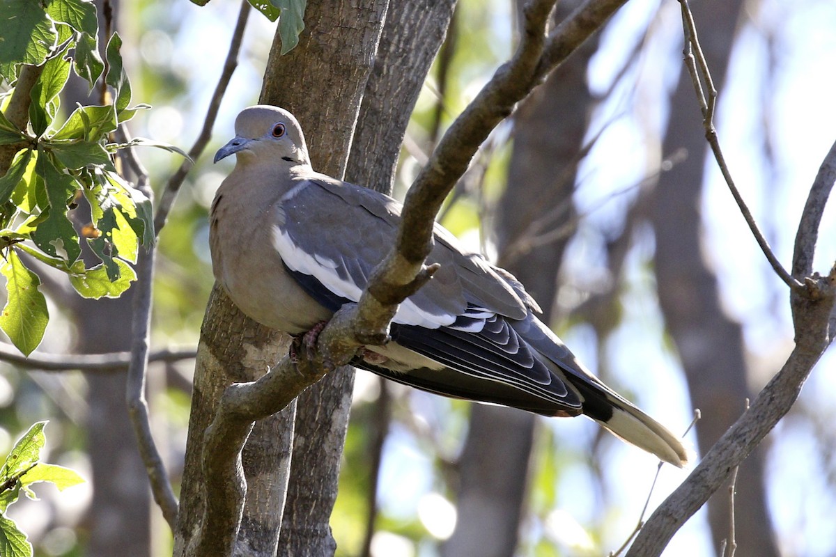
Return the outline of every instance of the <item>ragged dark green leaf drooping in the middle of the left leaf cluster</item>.
[[[43,210],[45,218],[33,231],[32,241],[48,255],[61,257],[72,264],[81,255],[81,247],[79,236],[67,218],[67,202],[74,197],[79,185],[73,176],[58,170],[50,157],[40,149],[35,172],[43,178],[49,209]]]

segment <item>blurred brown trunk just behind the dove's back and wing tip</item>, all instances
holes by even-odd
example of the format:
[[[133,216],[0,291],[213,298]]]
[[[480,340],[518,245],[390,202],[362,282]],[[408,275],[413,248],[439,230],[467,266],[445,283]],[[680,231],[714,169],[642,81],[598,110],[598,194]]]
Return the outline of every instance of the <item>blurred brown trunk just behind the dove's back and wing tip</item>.
[[[579,2],[558,4],[556,20]],[[574,216],[577,154],[591,102],[586,66],[590,41],[549,75],[514,115],[507,185],[497,205],[500,266],[523,282],[552,319],[557,276],[568,237],[539,243]],[[511,408],[474,404],[459,476],[456,530],[442,555],[512,555],[517,546],[535,418]]]

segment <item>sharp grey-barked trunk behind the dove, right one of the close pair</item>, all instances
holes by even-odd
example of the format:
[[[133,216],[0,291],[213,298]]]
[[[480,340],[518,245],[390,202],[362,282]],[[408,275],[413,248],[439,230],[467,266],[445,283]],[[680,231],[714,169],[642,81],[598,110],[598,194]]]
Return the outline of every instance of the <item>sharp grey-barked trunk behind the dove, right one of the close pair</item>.
[[[390,191],[406,124],[432,58],[444,38],[453,3],[451,0],[421,0],[399,3],[392,7],[385,18],[385,27],[380,35],[380,44],[368,81],[363,84],[364,90],[358,91],[358,94],[363,94],[363,99],[347,168],[341,161],[339,168],[326,172],[341,175],[345,168],[346,180],[387,193]],[[308,17],[306,13],[306,26],[314,28],[315,23]],[[375,21],[373,18],[365,20]],[[334,47],[342,48],[341,45],[347,40],[350,39],[340,40]],[[276,45],[274,52],[275,48]],[[268,69],[268,73],[270,71]],[[287,70],[277,71],[283,73]],[[310,68],[306,71],[310,73]],[[265,78],[265,82],[268,81]],[[304,90],[303,86],[296,89],[298,99],[288,98],[287,93],[282,92],[280,103],[284,103],[284,106],[307,103],[308,95],[303,94]],[[267,91],[266,87],[265,95]],[[339,99],[344,99],[344,95]],[[323,102],[335,104],[333,98],[324,99]],[[291,110],[298,116],[298,109]],[[301,121],[307,130],[308,124]],[[323,166],[316,162],[318,155],[313,140],[311,143],[314,167],[321,169]],[[325,377],[298,399],[287,521],[279,540],[278,555],[334,553],[334,541],[328,524],[336,497],[339,458],[353,382],[354,375],[350,368],[342,368]],[[329,416],[330,419],[324,420],[322,416]],[[300,443],[301,439],[303,443]]]

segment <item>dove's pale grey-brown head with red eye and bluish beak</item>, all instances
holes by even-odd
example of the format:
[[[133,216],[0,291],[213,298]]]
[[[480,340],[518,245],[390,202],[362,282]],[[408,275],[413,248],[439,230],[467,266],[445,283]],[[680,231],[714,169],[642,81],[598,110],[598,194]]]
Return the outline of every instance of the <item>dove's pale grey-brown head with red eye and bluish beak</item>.
[[[251,106],[238,114],[235,137],[218,149],[215,162],[233,153],[239,164],[270,160],[280,165],[310,165],[308,146],[293,114],[268,104]]]

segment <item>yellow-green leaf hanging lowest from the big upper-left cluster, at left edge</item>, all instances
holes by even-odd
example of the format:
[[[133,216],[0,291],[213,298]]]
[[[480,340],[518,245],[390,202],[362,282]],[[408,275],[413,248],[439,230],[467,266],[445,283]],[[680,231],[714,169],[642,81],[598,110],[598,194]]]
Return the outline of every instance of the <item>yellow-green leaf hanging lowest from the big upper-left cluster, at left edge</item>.
[[[8,300],[0,315],[0,329],[3,329],[23,355],[28,356],[43,340],[43,332],[49,321],[46,298],[38,291],[41,281],[38,275],[23,265],[14,249],[8,250],[0,272],[6,277],[8,291]],[[6,470],[5,465],[3,470]]]

